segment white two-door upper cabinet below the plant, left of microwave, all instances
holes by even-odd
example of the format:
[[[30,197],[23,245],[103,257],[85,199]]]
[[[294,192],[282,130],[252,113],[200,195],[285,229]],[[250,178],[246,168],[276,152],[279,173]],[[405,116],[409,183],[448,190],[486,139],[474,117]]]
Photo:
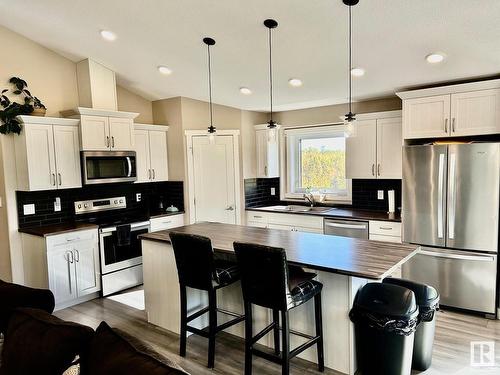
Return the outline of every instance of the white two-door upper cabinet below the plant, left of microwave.
[[[17,188],[24,191],[81,187],[78,120],[19,116],[15,137]]]

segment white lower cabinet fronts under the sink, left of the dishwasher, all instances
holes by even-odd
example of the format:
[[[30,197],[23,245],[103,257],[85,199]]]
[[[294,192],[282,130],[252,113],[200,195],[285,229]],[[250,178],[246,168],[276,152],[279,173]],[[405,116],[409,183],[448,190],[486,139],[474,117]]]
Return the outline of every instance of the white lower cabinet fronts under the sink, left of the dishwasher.
[[[292,232],[323,233],[323,218],[312,215],[247,211],[247,225]]]

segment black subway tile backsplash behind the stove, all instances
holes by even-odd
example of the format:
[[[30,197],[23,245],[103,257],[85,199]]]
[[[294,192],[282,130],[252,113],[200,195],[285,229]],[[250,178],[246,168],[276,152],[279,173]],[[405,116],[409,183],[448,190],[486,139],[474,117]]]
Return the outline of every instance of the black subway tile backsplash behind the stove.
[[[141,201],[136,202],[136,193],[141,193]],[[160,201],[164,208],[174,205],[184,210],[184,184],[182,181],[166,181],[138,184],[87,185],[82,188],[17,191],[17,212],[19,228],[59,224],[75,220],[74,202],[88,199],[125,196],[127,209],[148,214],[159,211]],[[61,198],[61,211],[54,212],[54,201]],[[24,215],[23,205],[35,204],[34,215]]]

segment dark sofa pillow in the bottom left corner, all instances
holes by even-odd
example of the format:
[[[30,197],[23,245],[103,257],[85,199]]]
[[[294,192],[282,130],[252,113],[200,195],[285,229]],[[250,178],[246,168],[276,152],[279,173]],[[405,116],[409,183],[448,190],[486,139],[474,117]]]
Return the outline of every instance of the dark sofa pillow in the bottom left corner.
[[[62,374],[83,357],[94,331],[43,310],[15,309],[7,327],[0,375]]]

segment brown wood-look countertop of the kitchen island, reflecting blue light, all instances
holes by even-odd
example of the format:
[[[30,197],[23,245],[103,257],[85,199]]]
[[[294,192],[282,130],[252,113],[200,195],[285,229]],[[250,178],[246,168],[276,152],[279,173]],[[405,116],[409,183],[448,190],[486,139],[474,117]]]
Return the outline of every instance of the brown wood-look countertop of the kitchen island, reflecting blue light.
[[[226,254],[233,253],[235,241],[282,247],[290,264],[374,280],[389,276],[419,250],[417,245],[220,223],[198,223],[172,230],[208,237],[216,251]],[[145,233],[139,238],[170,243],[169,232]]]

